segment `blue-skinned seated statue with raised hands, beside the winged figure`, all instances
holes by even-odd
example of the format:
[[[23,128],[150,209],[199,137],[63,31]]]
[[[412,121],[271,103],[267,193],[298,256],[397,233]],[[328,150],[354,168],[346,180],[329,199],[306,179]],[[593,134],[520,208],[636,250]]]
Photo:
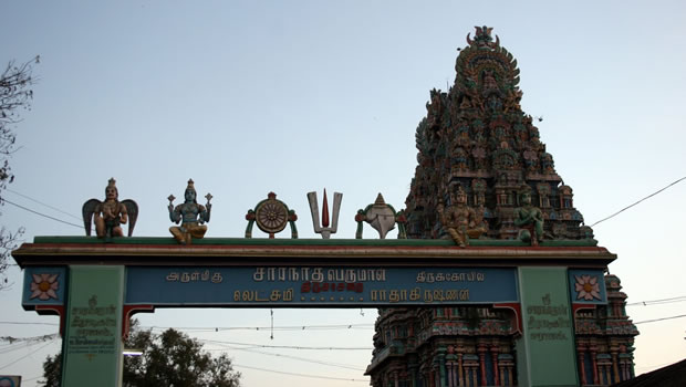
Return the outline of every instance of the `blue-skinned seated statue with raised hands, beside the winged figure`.
[[[193,239],[201,239],[207,232],[207,226],[205,222],[209,222],[209,215],[212,209],[212,205],[209,202],[212,198],[210,194],[207,194],[205,198],[207,203],[205,206],[198,205],[196,200],[197,194],[193,179],[188,180],[188,187],[184,192],[184,203],[174,207],[174,195],[169,195],[169,219],[175,223],[181,223],[181,226],[172,226],[169,232],[181,244],[190,244]]]

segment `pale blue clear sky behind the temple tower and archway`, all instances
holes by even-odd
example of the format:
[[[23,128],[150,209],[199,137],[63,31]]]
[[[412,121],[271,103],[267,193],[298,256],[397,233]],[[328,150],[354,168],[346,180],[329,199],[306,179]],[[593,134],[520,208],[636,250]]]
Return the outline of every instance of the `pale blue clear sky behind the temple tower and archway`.
[[[344,194],[333,238],[353,238],[358,208],[383,192],[404,207],[416,167],[415,128],[429,90],[455,79],[457,48],[493,27],[518,60],[522,107],[588,223],[686,176],[686,6],[683,1],[0,1],[0,64],[37,54],[40,83],[18,126],[12,190],[79,216],[110,177],[141,206],[137,236],[167,236],[166,197],[186,180],[215,196],[207,237],[241,237],[245,213],[274,191],[312,231],[305,194]],[[686,295],[682,219],[686,182],[595,227],[617,253],[610,266],[628,302]],[[6,198],[80,223],[24,198]],[[330,198],[331,199],[331,198]],[[1,222],[34,236],[82,230],[6,205]],[[365,229],[365,236],[373,234]],[[2,321],[55,322],[23,312],[17,284]],[[627,308],[635,322],[684,314],[684,303]],[[372,324],[375,311],[276,311],[274,325]],[[269,311],[158,311],[156,326],[267,326]],[[686,357],[685,320],[640,324],[638,373]],[[0,324],[2,336],[54,326]],[[365,346],[289,353],[364,368],[373,330],[202,333],[267,345]],[[58,344],[1,353],[0,374],[41,375]],[[305,344],[306,345],[306,344]],[[211,347],[208,344],[208,347]],[[285,353],[283,351],[272,351]],[[236,364],[365,379],[361,372],[245,351]],[[240,368],[246,386],[320,379]],[[25,383],[33,386],[35,380]],[[363,386],[326,381],[330,386]]]

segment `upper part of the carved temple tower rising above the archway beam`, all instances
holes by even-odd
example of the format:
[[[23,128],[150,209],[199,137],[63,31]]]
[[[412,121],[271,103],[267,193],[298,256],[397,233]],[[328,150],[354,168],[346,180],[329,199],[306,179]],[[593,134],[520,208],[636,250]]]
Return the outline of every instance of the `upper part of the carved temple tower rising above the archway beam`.
[[[409,238],[440,238],[438,201],[460,185],[468,203],[488,226],[488,237],[513,239],[513,209],[522,185],[543,211],[547,239],[582,239],[592,232],[580,227],[572,188],[555,172],[536,118],[519,102],[517,60],[490,28],[477,28],[474,40],[455,64],[455,85],[448,93],[433,90],[426,117],[417,127],[417,168],[406,199]]]

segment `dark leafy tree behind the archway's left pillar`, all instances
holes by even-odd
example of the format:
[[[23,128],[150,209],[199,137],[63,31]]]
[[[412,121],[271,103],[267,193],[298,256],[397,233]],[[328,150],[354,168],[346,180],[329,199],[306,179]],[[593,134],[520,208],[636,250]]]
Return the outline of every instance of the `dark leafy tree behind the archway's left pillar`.
[[[226,354],[212,357],[202,351],[201,343],[176,330],[155,335],[139,330],[134,322],[125,346],[143,351],[141,356],[124,357],[125,387],[240,386],[240,373],[233,370]],[[43,386],[60,386],[61,360],[61,354],[48,356],[43,363]]]

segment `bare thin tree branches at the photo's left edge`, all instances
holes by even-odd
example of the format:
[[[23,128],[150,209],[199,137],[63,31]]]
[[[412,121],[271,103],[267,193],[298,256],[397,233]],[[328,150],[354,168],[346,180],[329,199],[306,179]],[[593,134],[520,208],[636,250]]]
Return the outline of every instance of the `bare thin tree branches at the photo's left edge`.
[[[14,181],[14,175],[10,168],[10,156],[17,150],[17,134],[14,126],[21,122],[19,111],[31,109],[33,91],[30,88],[35,83],[32,76],[33,64],[39,63],[40,57],[23,64],[11,61],[0,75],[0,203],[2,191]],[[9,264],[10,252],[17,248],[19,237],[23,229],[15,232],[6,227],[0,228],[0,275],[4,273]],[[7,278],[1,276],[0,290],[7,285]]]

